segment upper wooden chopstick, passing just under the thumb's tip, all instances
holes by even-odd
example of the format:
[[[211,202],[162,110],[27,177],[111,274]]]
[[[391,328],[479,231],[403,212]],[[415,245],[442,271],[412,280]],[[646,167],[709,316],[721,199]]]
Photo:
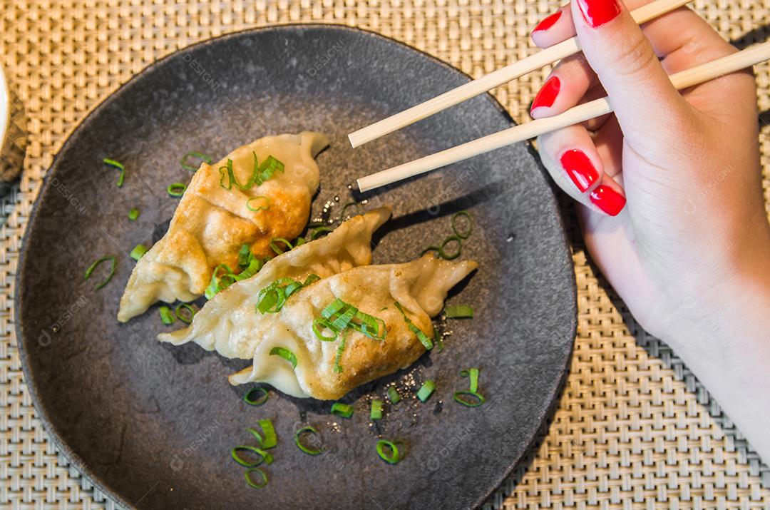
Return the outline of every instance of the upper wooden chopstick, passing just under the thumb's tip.
[[[634,9],[634,11],[631,12],[631,16],[634,18],[634,21],[641,25],[641,23],[648,22],[653,18],[664,15],[666,12],[671,12],[675,8],[679,8],[690,1],[691,0],[655,0],[655,2]],[[412,106],[410,109],[405,109],[403,112],[387,117],[387,119],[374,122],[370,126],[350,133],[350,135],[347,136],[348,139],[350,139],[350,145],[357,147],[364,143],[371,142],[373,139],[380,138],[380,136],[393,133],[393,131],[396,131],[397,129],[409,126],[418,120],[425,119],[426,117],[434,115],[434,113],[447,109],[450,106],[454,106],[466,99],[483,94],[488,90],[510,82],[512,79],[516,79],[528,72],[541,69],[544,65],[574,55],[580,50],[581,47],[580,43],[577,42],[577,37],[550,46],[534,55],[528,56],[526,59],[521,59],[511,65],[506,65],[479,79],[467,82],[466,84],[457,87],[457,89],[444,92],[440,96],[434,97],[434,99],[428,99],[426,102]]]

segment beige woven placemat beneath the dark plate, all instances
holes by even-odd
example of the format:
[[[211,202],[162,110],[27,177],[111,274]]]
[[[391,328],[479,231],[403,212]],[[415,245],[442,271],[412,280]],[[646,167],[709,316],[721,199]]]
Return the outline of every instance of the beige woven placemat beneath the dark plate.
[[[253,26],[334,22],[381,32],[479,76],[534,51],[552,0],[0,0],[0,58],[25,103],[21,183],[0,203],[0,505],[114,508],[69,467],[35,418],[13,326],[18,251],[52,157],[77,123],[146,65],[193,42]],[[698,12],[738,45],[768,36],[770,0]],[[756,68],[770,204],[770,77]],[[547,70],[494,91],[521,122]],[[565,205],[567,213],[571,206]],[[770,211],[770,206],[768,206]],[[495,508],[770,508],[770,470],[665,344],[611,302],[571,223],[579,324],[551,428]],[[618,302],[617,300],[615,302]],[[635,338],[634,338],[635,337]]]

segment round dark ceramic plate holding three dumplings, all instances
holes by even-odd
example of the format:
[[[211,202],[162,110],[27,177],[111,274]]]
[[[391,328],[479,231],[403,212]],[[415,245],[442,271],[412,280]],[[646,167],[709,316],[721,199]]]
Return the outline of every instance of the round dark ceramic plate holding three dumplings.
[[[480,96],[384,139],[351,149],[346,133],[467,76],[379,35],[337,26],[284,26],[240,32],[162,59],[102,103],[59,152],[25,237],[16,324],[26,381],[45,428],[103,492],[138,508],[460,508],[484,502],[520,461],[546,421],[564,380],[576,323],[574,273],[553,190],[537,159],[518,144],[358,196],[355,178],[511,125]],[[330,403],[274,391],[253,408],[226,376],[246,364],[195,344],[155,341],[157,307],[119,324],[119,297],[137,243],[158,237],[176,199],[169,183],[189,180],[180,157],[225,155],[271,133],[316,129],[331,147],[318,163],[318,213],[327,200],[389,203],[375,263],[417,257],[450,231],[451,214],[470,209],[476,229],[463,250],[480,270],[450,296],[471,304],[454,320],[441,353],[410,371],[374,381]],[[125,163],[126,183],[102,165]],[[338,207],[340,206],[338,203]],[[142,215],[126,217],[132,207]],[[102,290],[83,280],[96,257],[119,256]],[[102,267],[100,270],[103,270]],[[98,275],[99,277],[102,274]],[[95,278],[99,280],[99,277]],[[487,402],[452,400],[458,376],[480,367]],[[425,379],[437,391],[413,398]],[[373,395],[397,382],[407,395],[377,424]],[[259,491],[243,480],[229,449],[249,443],[246,428],[272,418],[280,443]],[[293,431],[313,424],[327,451],[310,457]],[[404,441],[398,465],[377,457],[379,436]],[[403,448],[402,448],[403,449]]]

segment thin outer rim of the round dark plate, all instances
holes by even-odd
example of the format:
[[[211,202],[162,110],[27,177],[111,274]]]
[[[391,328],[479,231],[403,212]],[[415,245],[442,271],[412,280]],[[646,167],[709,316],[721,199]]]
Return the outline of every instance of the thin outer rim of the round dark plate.
[[[39,396],[38,396],[38,384],[35,382],[35,377],[33,377],[33,372],[31,371],[31,368],[29,366],[28,361],[28,352],[26,349],[26,341],[25,337],[22,334],[22,323],[20,320],[20,307],[19,299],[22,295],[22,282],[24,280],[23,275],[25,274],[25,260],[26,260],[26,246],[28,237],[30,236],[30,233],[33,230],[33,227],[35,225],[35,221],[38,220],[38,213],[39,213],[39,206],[42,202],[42,197],[49,191],[49,188],[51,186],[52,177],[54,176],[55,170],[58,168],[59,161],[61,159],[62,153],[65,153],[66,149],[69,148],[69,146],[72,143],[75,143],[75,139],[77,139],[79,136],[81,136],[82,129],[85,129],[90,122],[93,121],[94,117],[99,114],[103,109],[105,109],[109,104],[117,100],[116,98],[122,93],[125,92],[125,89],[127,89],[130,85],[132,85],[133,82],[135,82],[138,79],[142,79],[143,75],[145,75],[147,72],[152,71],[152,69],[155,69],[161,65],[164,65],[167,60],[179,58],[179,55],[185,55],[186,53],[195,51],[196,49],[199,49],[201,47],[204,47],[206,45],[213,45],[221,41],[225,41],[227,39],[236,39],[238,37],[243,37],[246,35],[258,33],[258,32],[271,32],[271,31],[294,31],[296,29],[331,29],[331,30],[342,30],[342,31],[349,31],[349,32],[358,32],[362,35],[367,35],[369,37],[372,37],[374,39],[381,39],[384,42],[394,43],[395,45],[401,46],[403,49],[409,49],[412,52],[417,52],[417,54],[427,57],[427,59],[430,59],[430,61],[437,63],[441,66],[443,66],[446,69],[449,69],[451,71],[459,73],[464,78],[467,78],[468,80],[472,80],[473,77],[467,74],[467,72],[462,71],[461,69],[458,69],[454,65],[451,65],[449,62],[445,62],[442,59],[437,58],[434,55],[430,55],[430,53],[427,53],[423,51],[422,49],[418,49],[414,47],[413,45],[410,45],[407,42],[399,41],[398,39],[394,39],[393,37],[390,37],[388,35],[380,34],[379,32],[374,32],[373,30],[369,29],[361,29],[356,26],[349,26],[344,25],[342,23],[323,23],[323,22],[296,22],[296,23],[286,23],[286,24],[276,24],[276,25],[264,25],[259,27],[251,27],[248,29],[242,29],[242,30],[236,30],[234,32],[228,32],[223,35],[218,35],[216,37],[212,37],[209,39],[204,39],[203,41],[194,42],[190,45],[185,46],[184,48],[177,49],[174,52],[169,53],[168,55],[162,56],[160,59],[155,60],[154,62],[149,63],[149,65],[146,65],[146,67],[142,68],[139,72],[136,72],[134,75],[131,76],[126,82],[123,82],[120,84],[120,86],[109,93],[108,96],[105,97],[105,99],[102,99],[99,103],[97,103],[86,115],[83,117],[75,126],[72,128],[72,132],[69,133],[67,138],[65,139],[65,142],[62,143],[62,146],[59,148],[58,151],[56,151],[56,154],[54,158],[52,159],[51,166],[48,167],[48,169],[45,172],[45,176],[42,178],[42,182],[40,183],[40,187],[38,190],[38,196],[35,197],[35,202],[32,204],[32,210],[29,213],[27,223],[25,225],[24,233],[22,233],[22,240],[19,248],[19,254],[18,254],[18,262],[17,262],[17,272],[14,275],[15,280],[15,290],[13,294],[13,304],[14,304],[14,332],[16,336],[16,347],[18,349],[18,355],[19,355],[19,361],[22,365],[22,374],[24,374],[24,384],[27,388],[30,400],[32,401],[32,405],[35,408],[35,414],[36,418],[40,421],[42,424],[46,435],[48,435],[49,439],[53,442],[53,444],[56,447],[56,451],[59,453],[59,455],[62,455],[66,458],[69,465],[75,468],[76,471],[78,471],[81,481],[79,482],[82,485],[82,479],[85,479],[89,482],[90,485],[92,485],[94,488],[99,490],[99,492],[102,493],[102,495],[105,495],[106,497],[112,499],[112,501],[118,503],[119,505],[122,505],[126,508],[136,508],[136,505],[141,502],[142,498],[145,496],[142,496],[142,498],[139,499],[136,503],[130,503],[127,502],[124,498],[124,495],[119,494],[117,491],[112,490],[112,488],[108,488],[102,483],[102,479],[99,478],[98,475],[95,474],[92,469],[85,464],[80,458],[79,455],[77,455],[77,452],[73,448],[71,448],[66,441],[59,435],[58,431],[55,430],[55,428],[52,426],[51,421],[49,420],[48,414],[45,412],[45,407],[42,406],[39,403]],[[507,120],[507,122],[511,124],[515,124],[516,122],[511,117],[511,114],[507,111],[507,109],[504,108],[504,106],[495,98],[492,96],[490,92],[484,92],[480,96],[487,99],[488,102],[494,106],[495,109],[500,112],[504,116],[504,119]],[[561,374],[560,379],[556,386],[554,387],[554,391],[552,391],[550,394],[547,395],[548,400],[550,403],[547,406],[547,409],[542,413],[540,417],[540,425],[537,427],[536,431],[532,435],[529,441],[527,441],[527,445],[525,448],[522,449],[521,453],[517,455],[516,458],[514,458],[511,461],[511,466],[504,469],[501,472],[501,475],[497,477],[496,480],[494,480],[494,484],[492,487],[487,491],[484,492],[484,494],[478,498],[473,503],[473,508],[478,508],[481,505],[484,505],[485,502],[487,502],[498,490],[500,490],[500,487],[504,484],[504,481],[510,477],[511,472],[514,471],[515,468],[517,468],[518,465],[521,464],[521,461],[532,451],[533,446],[537,443],[537,441],[540,440],[541,434],[544,430],[547,430],[548,428],[548,420],[551,418],[551,416],[554,414],[555,409],[557,408],[557,404],[560,400],[559,396],[561,392],[564,390],[565,384],[567,382],[567,377],[570,371],[571,362],[574,354],[574,337],[577,334],[577,282],[575,281],[575,273],[574,273],[574,263],[572,262],[571,258],[571,245],[568,240],[567,236],[567,230],[564,223],[564,215],[562,214],[561,207],[559,206],[558,200],[557,200],[557,190],[554,187],[554,183],[552,180],[547,176],[547,174],[544,172],[540,156],[537,153],[537,150],[534,149],[534,146],[532,145],[531,141],[527,140],[525,142],[527,147],[527,152],[531,154],[531,156],[535,159],[537,166],[540,168],[541,172],[544,173],[544,176],[546,178],[547,185],[551,188],[551,197],[550,200],[554,204],[554,208],[557,210],[557,223],[561,227],[561,240],[564,244],[564,248],[566,250],[566,257],[565,258],[565,265],[568,266],[568,273],[571,273],[572,277],[570,278],[570,290],[574,297],[573,300],[571,300],[571,309],[569,317],[570,317],[570,330],[572,332],[571,337],[573,338],[573,341],[571,342],[569,346],[569,352],[567,354],[567,361],[564,364],[563,367],[561,367]],[[62,466],[63,467],[63,466]],[[152,489],[150,489],[150,492],[152,492]],[[147,493],[149,494],[149,492]]]

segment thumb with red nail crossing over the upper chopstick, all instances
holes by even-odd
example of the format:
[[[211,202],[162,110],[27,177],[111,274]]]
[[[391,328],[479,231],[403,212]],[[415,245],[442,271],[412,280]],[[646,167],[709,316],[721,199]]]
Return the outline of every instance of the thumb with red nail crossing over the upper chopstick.
[[[627,141],[650,149],[650,143],[670,142],[686,102],[628,9],[620,0],[575,0],[572,18]]]

